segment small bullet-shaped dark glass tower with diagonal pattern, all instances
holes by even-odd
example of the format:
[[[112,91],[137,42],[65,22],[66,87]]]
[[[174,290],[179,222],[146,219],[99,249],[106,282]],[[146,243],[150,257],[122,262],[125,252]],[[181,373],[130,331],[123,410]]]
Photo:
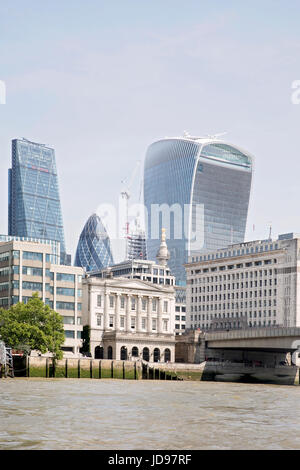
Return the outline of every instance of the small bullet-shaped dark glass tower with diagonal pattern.
[[[87,272],[114,264],[108,234],[97,214],[91,215],[83,227],[74,264]]]

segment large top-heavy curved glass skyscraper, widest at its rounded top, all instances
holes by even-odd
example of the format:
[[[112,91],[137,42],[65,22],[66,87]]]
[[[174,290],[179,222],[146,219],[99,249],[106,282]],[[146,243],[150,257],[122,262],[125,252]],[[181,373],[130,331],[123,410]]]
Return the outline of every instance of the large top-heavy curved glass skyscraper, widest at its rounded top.
[[[166,138],[148,148],[148,259],[155,259],[165,227],[177,284],[185,284],[183,264],[191,254],[244,241],[252,166],[250,154],[215,138]]]

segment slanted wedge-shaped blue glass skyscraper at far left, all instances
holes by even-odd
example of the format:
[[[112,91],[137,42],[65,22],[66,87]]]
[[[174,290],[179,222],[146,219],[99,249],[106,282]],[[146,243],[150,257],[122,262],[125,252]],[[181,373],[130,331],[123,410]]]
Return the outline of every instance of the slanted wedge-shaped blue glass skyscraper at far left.
[[[27,139],[12,141],[8,183],[8,234],[60,242],[66,255],[54,150]]]

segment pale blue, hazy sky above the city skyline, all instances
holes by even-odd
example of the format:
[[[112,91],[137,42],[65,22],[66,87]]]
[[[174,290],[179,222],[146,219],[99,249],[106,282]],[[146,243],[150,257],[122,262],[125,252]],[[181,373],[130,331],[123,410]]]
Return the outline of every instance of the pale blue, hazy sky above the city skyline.
[[[299,17],[298,0],[0,0],[0,233],[12,139],[55,149],[74,257],[147,147],[184,131],[254,156],[247,240],[300,233]]]

